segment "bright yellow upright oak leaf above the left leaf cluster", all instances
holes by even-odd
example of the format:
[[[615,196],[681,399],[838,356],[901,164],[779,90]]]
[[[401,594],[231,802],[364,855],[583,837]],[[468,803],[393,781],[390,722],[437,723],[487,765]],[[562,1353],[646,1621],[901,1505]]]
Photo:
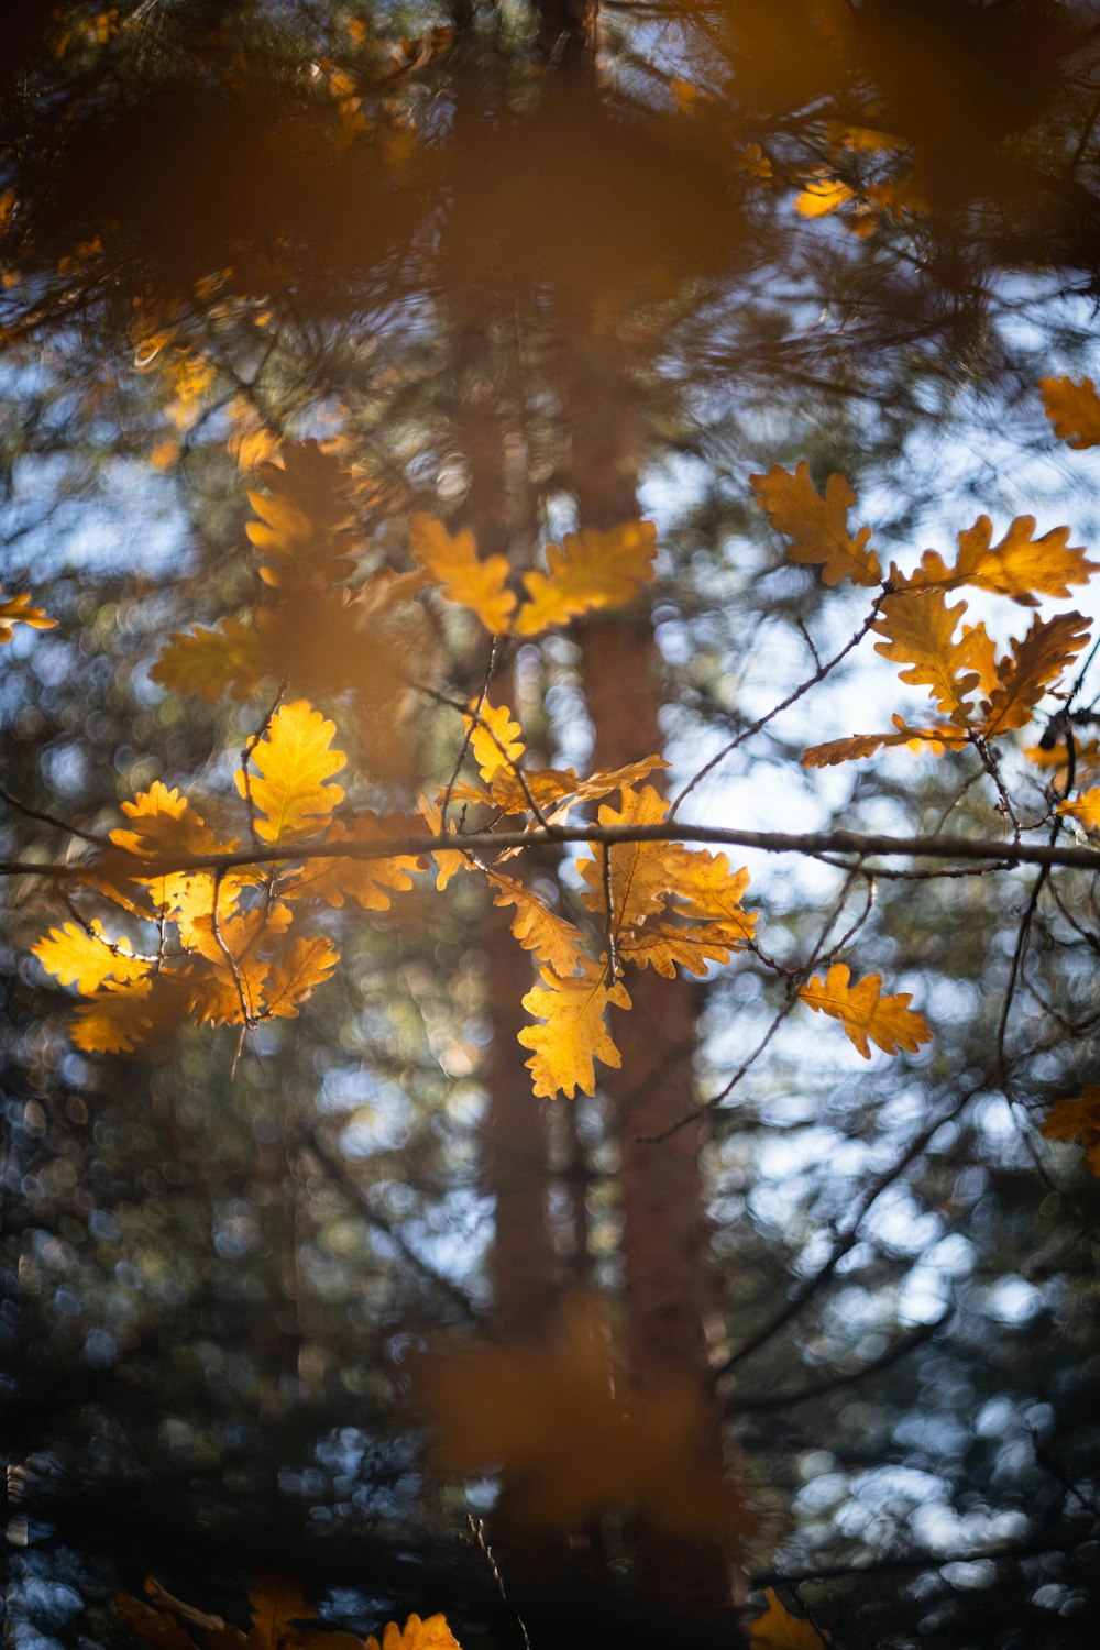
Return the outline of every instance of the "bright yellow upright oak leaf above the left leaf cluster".
[[[345,766],[343,751],[331,751],[335,723],[325,721],[308,700],[284,705],[252,749],[259,779],[236,776],[242,797],[251,795],[256,833],[264,842],[285,843],[323,830],[343,800],[328,776]]]

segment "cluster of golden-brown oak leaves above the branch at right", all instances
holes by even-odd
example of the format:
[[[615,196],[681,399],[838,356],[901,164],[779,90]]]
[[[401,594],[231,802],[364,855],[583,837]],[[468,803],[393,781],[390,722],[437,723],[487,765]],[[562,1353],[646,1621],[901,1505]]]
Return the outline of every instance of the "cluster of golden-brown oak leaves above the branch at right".
[[[752,485],[775,528],[792,540],[792,561],[820,566],[826,584],[849,579],[882,586],[872,625],[882,637],[876,652],[904,667],[902,681],[927,688],[938,713],[927,724],[909,726],[894,716],[892,733],[853,734],[813,746],[803,756],[806,767],[872,756],[886,746],[932,749],[940,756],[1024,728],[1088,639],[1084,614],[1036,617],[1022,640],[1011,639],[1009,650],[998,657],[983,622],[961,622],[966,602],[947,601],[947,592],[961,586],[1021,607],[1037,607],[1041,597],[1067,597],[1070,586],[1087,584],[1100,564],[1069,543],[1065,526],[1036,538],[1034,516],[1018,516],[994,544],[993,523],[983,515],[958,535],[952,564],[928,549],[915,573],[904,576],[891,566],[882,579],[877,556],[867,548],[871,530],[859,528],[854,536],[848,531],[854,493],[841,475],[830,477],[823,495],[805,464],[793,475],[777,465],[767,475],[754,475]]]

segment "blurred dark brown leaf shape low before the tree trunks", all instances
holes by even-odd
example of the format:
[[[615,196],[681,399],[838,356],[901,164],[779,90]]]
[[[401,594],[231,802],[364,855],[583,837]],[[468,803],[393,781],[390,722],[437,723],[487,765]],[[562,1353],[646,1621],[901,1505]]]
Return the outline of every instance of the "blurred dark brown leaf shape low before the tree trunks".
[[[749,1523],[707,1454],[699,1383],[670,1373],[635,1386],[590,1295],[566,1300],[543,1345],[473,1341],[425,1355],[414,1389],[437,1427],[439,1473],[503,1470],[513,1516],[533,1528],[622,1506],[679,1536]]]

